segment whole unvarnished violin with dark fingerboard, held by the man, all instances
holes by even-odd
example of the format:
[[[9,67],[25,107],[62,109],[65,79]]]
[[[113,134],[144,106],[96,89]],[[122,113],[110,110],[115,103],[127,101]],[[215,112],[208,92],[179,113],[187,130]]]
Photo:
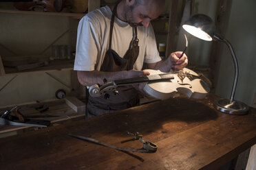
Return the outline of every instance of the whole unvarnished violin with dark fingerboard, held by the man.
[[[198,75],[190,69],[182,69],[172,73],[163,73],[159,70],[146,69],[150,75],[124,80],[106,82],[99,86],[94,84],[89,87],[89,94],[92,97],[107,96],[108,93],[118,95],[118,86],[139,84],[140,90],[156,99],[169,99],[176,93],[186,95],[193,99],[204,99],[210,92],[211,82],[203,75]]]

